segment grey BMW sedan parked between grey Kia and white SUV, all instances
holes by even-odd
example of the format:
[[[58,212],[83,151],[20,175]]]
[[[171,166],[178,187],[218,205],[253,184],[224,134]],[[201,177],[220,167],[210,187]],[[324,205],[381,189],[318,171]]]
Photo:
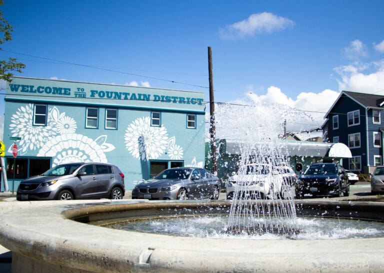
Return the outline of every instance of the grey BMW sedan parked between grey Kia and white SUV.
[[[177,167],[163,170],[153,179],[137,184],[132,190],[132,199],[217,200],[221,181],[209,171],[195,167]]]

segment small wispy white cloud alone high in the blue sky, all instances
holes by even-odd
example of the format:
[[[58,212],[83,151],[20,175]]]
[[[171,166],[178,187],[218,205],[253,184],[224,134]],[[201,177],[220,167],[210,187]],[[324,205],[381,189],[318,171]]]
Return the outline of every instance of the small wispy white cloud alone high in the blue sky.
[[[237,39],[258,33],[282,31],[293,26],[292,20],[264,12],[252,14],[245,20],[221,28],[219,35],[222,39]]]

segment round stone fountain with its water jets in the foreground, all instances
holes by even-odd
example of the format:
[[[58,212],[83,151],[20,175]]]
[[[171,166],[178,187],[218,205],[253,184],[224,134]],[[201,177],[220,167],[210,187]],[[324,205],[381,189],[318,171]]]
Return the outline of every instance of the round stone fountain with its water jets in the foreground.
[[[235,117],[219,130],[243,136],[239,173],[249,164],[272,168],[285,162],[284,145],[277,141],[281,121],[293,114],[267,114],[259,107],[230,111],[247,119],[246,126]],[[221,119],[223,120],[223,119]],[[263,129],[262,123],[270,120]],[[231,122],[233,121],[233,122]],[[244,121],[245,122],[245,121]],[[220,127],[221,126],[221,127]],[[245,126],[245,127],[244,127]],[[248,128],[248,126],[250,126]],[[247,144],[246,144],[247,143]],[[251,143],[251,144],[249,144]],[[257,143],[263,143],[258,145]],[[273,182],[273,177],[270,177]],[[248,186],[246,180],[239,180]],[[282,190],[285,186],[282,184]],[[267,188],[267,199],[254,192],[235,192],[233,200],[72,200],[2,202],[0,204],[0,244],[12,251],[12,272],[383,272],[384,238],[345,239],[302,238],[301,217],[374,221],[380,229],[384,205],[375,202],[295,201],[281,198],[281,189]],[[289,191],[287,191],[289,192]],[[242,198],[239,198],[242,197]],[[265,196],[264,196],[265,197]],[[122,221],[129,223],[158,219],[223,217],[222,237],[185,237],[103,227]],[[369,222],[368,223],[368,227]],[[161,222],[159,222],[161,225]],[[188,225],[188,224],[187,224]],[[217,232],[216,232],[217,233]],[[288,235],[285,239],[265,234]],[[171,235],[169,235],[171,234]],[[261,235],[260,235],[261,234]],[[242,237],[237,237],[241,235]],[[261,239],[255,239],[261,236]]]

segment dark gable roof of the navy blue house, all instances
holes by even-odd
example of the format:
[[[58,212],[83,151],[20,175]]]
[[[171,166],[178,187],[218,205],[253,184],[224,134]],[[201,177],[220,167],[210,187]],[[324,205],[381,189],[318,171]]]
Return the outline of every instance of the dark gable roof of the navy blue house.
[[[332,106],[329,108],[328,112],[326,112],[324,118],[326,118],[329,115],[330,111],[333,109],[333,107],[336,105],[336,103],[338,102],[338,100],[341,98],[342,95],[345,95],[346,97],[350,98],[351,100],[353,100],[354,102],[356,102],[357,104],[361,105],[366,109],[382,108],[383,102],[384,102],[384,96],[382,95],[341,91],[340,95],[337,97],[337,99],[334,101]]]

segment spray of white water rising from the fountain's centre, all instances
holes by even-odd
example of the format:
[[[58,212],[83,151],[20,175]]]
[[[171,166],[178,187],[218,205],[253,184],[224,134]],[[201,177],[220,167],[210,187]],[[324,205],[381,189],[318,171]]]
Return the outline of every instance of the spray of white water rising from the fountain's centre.
[[[289,179],[279,170],[289,166],[286,121],[305,116],[282,105],[220,104],[217,134],[238,142],[237,174],[227,230],[231,233],[294,234],[299,231]],[[307,116],[305,116],[307,118]]]

